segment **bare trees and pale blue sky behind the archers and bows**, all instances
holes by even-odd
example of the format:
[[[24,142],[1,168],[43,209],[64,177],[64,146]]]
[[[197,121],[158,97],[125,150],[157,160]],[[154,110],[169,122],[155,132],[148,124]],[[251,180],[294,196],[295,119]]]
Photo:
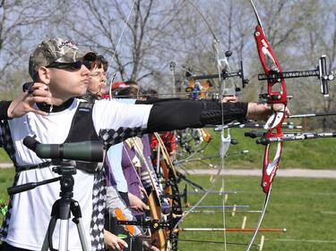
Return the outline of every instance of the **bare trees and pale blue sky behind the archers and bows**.
[[[266,35],[283,71],[311,70],[321,54],[328,69],[336,61],[336,3],[332,0],[255,0]],[[254,45],[256,20],[247,0],[194,0],[220,39],[237,70],[243,61],[250,84],[241,100],[256,100],[263,86]],[[211,30],[185,0],[2,0],[0,2],[0,98],[15,96],[27,73],[31,49],[43,38],[67,37],[104,54],[109,75],[138,81],[144,88],[184,90],[185,70],[216,73]],[[175,67],[172,69],[172,63]],[[336,81],[335,81],[336,82]],[[292,113],[335,109],[334,83],[330,97],[318,95],[317,79],[287,81]],[[332,118],[314,127],[332,128]]]

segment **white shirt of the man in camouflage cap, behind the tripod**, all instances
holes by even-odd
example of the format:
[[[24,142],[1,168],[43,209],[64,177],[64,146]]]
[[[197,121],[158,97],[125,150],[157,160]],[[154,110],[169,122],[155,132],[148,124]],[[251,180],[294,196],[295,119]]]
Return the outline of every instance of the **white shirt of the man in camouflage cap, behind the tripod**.
[[[27,113],[21,118],[8,121],[15,149],[15,159],[19,166],[48,161],[40,159],[34,152],[23,146],[22,139],[36,135],[36,139],[44,144],[64,143],[79,103],[80,100],[75,98],[73,104],[65,111],[49,113],[47,116]],[[93,105],[92,120],[98,135],[100,130],[112,130],[116,134],[116,130],[119,133],[127,129],[145,129],[150,112],[151,105],[126,105],[116,101],[99,100]],[[52,171],[52,166],[23,171],[16,185],[48,180],[57,176],[58,174]],[[77,200],[81,206],[84,232],[90,247],[93,174],[77,170],[73,179],[73,199]],[[4,220],[6,224],[0,231],[3,235],[2,240],[13,247],[40,250],[47,232],[51,208],[59,198],[59,192],[60,184],[54,182],[14,195],[11,199],[13,206],[8,213],[9,216]],[[58,248],[58,232],[57,224],[53,237],[56,249]],[[69,250],[82,250],[77,228],[72,221],[69,227]]]

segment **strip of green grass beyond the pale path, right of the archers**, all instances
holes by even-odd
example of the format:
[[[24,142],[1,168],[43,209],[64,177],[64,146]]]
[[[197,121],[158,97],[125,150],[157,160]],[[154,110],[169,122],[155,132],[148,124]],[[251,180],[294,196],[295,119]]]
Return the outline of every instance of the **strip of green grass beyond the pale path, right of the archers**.
[[[219,155],[219,133],[213,133],[211,143],[204,151],[194,157]],[[238,140],[237,145],[231,145],[228,153],[248,150],[247,155],[231,155],[226,158],[228,168],[262,168],[264,146],[257,145],[254,138],[246,138],[244,132],[248,129],[231,129],[231,138]],[[280,158],[280,168],[307,168],[307,169],[336,169],[335,138],[318,138],[313,140],[284,142]],[[204,144],[204,143],[202,143]],[[276,146],[274,144],[274,146]],[[272,148],[271,148],[272,149]],[[193,157],[193,158],[194,158]],[[206,160],[205,163],[220,163],[219,159]],[[192,162],[184,164],[188,168],[208,168],[204,163]]]

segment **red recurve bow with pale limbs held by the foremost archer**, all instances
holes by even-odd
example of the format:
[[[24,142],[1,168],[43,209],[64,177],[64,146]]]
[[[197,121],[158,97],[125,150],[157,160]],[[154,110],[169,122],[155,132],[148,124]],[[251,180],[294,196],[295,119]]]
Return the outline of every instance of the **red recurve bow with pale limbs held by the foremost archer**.
[[[272,51],[271,45],[266,38],[266,35],[263,30],[262,22],[260,20],[259,14],[254,5],[254,1],[250,0],[250,4],[254,8],[254,14],[256,16],[258,25],[254,31],[254,40],[257,46],[258,54],[260,61],[263,65],[263,71],[265,71],[265,75],[269,77],[271,73],[276,72],[281,76],[281,67],[278,62],[274,52]],[[273,91],[274,86],[278,88],[276,91]],[[287,88],[285,79],[267,79],[267,93],[260,95],[265,98],[267,104],[282,104],[283,109],[278,112],[274,112],[270,119],[265,124],[265,129],[268,130],[265,134],[265,138],[273,138],[273,137],[283,137],[283,132],[281,130],[282,123],[285,119],[285,111],[287,106]],[[279,142],[272,160],[270,160],[270,148],[271,144],[265,145],[264,156],[263,156],[263,180],[262,180],[262,188],[265,195],[265,200],[263,203],[263,210],[261,216],[259,218],[257,227],[254,230],[254,235],[251,238],[246,251],[249,251],[254,243],[254,239],[258,233],[258,230],[261,227],[263,222],[263,216],[266,212],[266,208],[268,206],[270,197],[271,197],[271,186],[272,181],[276,175],[276,172],[280,163],[280,155],[282,151],[282,142]]]

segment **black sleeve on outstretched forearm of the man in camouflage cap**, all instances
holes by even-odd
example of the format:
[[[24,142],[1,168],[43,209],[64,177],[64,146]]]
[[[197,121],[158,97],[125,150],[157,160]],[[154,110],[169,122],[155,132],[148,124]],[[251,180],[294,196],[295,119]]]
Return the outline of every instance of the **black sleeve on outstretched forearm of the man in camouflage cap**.
[[[244,120],[247,103],[223,103],[214,101],[170,100],[157,102],[151,108],[147,132],[202,128]]]

